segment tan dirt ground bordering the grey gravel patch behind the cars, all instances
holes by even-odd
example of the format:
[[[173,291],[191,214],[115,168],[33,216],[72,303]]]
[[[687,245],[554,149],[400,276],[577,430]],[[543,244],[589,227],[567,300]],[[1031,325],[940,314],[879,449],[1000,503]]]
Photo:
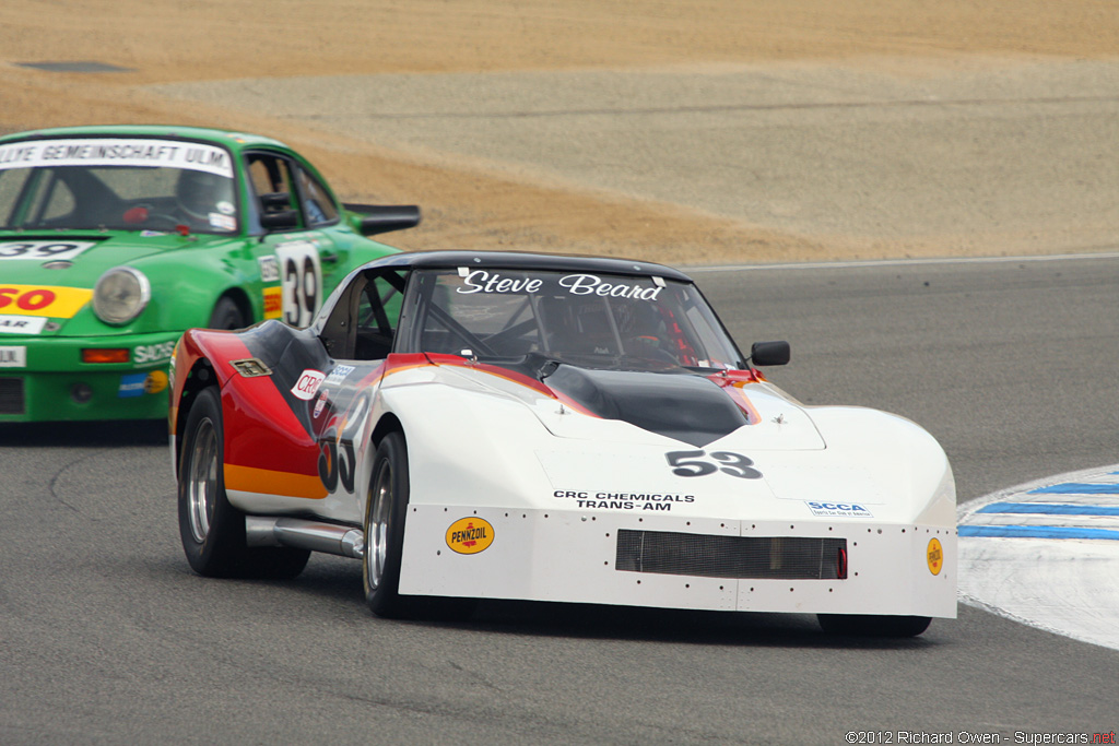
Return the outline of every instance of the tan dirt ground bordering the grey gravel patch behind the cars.
[[[424,226],[396,238],[414,248],[520,247],[689,264],[904,256],[974,246],[790,230],[535,179],[457,159],[453,152],[416,158],[323,131],[313,119],[172,101],[148,86],[796,60],[857,66],[864,59],[919,77],[929,60],[1108,60],[1117,54],[1119,13],[1108,0],[1014,0],[1009,6],[971,0],[30,0],[0,9],[0,129],[158,122],[271,134],[311,157],[347,198],[421,204]],[[22,66],[81,60],[121,69]],[[1059,211],[1053,219],[1061,219]],[[998,253],[997,246],[987,249]]]

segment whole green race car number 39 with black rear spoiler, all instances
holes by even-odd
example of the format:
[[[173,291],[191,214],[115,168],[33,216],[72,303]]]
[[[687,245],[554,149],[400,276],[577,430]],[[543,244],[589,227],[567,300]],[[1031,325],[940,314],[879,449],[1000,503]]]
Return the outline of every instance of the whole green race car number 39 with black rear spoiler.
[[[414,206],[344,205],[269,138],[90,126],[0,138],[0,423],[167,416],[184,330],[305,327],[368,236]]]

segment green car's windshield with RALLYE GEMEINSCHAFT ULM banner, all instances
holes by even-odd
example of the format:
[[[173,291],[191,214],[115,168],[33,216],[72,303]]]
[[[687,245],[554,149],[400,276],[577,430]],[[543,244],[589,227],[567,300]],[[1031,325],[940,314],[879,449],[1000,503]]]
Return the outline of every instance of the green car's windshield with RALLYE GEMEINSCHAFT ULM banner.
[[[237,232],[233,158],[156,139],[0,145],[0,230]]]

